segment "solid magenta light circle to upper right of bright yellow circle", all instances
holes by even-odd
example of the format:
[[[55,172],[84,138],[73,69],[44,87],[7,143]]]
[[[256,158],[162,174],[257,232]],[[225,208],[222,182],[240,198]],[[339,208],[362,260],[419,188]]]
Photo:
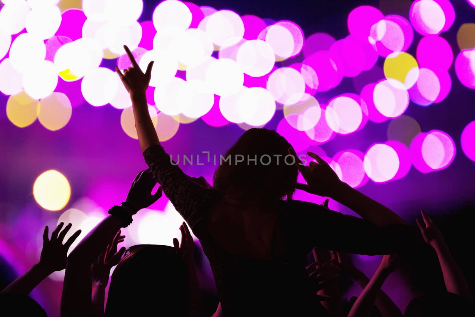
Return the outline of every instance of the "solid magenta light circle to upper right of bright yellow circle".
[[[427,36],[421,38],[416,52],[419,67],[448,70],[454,61],[452,48],[445,38]]]

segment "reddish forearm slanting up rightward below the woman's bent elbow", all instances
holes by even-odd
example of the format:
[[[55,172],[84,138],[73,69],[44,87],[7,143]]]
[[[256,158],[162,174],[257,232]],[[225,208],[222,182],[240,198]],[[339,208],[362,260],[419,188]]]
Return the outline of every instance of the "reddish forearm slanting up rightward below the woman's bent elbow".
[[[363,289],[358,299],[356,299],[348,317],[365,317],[371,315],[371,310],[373,309],[376,298],[380,295],[384,281],[396,268],[396,261],[397,257],[394,255],[383,256],[379,268],[374,273],[368,285]],[[399,316],[402,316],[400,311]]]

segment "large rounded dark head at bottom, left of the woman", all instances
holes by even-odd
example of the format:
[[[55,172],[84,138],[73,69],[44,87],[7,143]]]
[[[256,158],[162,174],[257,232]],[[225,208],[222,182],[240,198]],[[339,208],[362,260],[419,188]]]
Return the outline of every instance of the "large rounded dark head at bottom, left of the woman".
[[[176,250],[136,245],[114,269],[105,316],[189,316],[190,278]]]

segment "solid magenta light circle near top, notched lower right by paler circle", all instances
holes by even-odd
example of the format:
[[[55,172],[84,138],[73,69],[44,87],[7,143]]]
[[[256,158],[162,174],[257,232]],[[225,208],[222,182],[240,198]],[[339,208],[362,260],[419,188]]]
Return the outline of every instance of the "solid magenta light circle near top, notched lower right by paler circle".
[[[380,10],[371,6],[360,6],[348,15],[348,30],[361,42],[367,42],[374,24],[384,19]]]

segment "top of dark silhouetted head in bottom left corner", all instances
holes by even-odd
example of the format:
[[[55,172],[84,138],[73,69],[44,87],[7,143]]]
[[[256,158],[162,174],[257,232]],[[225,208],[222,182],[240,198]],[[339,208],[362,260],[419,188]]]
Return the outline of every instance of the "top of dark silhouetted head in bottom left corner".
[[[0,294],[0,315],[47,317],[46,311],[33,298],[11,293]]]

